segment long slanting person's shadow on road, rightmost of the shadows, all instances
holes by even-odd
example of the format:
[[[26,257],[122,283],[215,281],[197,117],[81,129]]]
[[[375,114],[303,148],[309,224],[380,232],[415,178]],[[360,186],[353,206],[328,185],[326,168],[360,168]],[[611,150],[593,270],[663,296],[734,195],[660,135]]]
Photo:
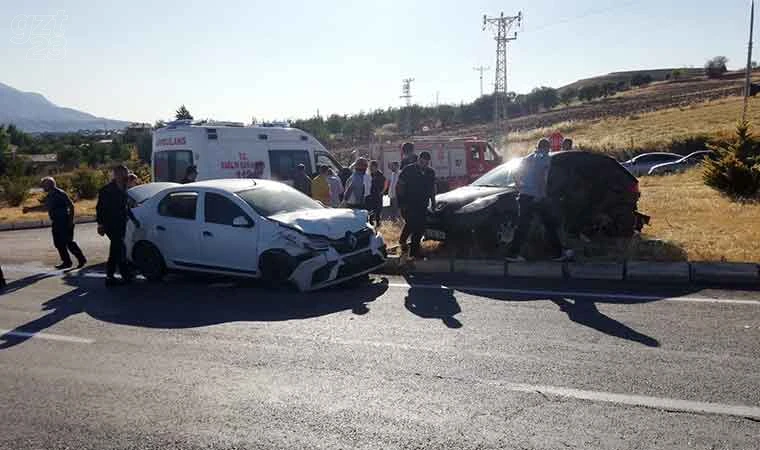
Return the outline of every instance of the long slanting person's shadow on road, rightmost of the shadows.
[[[575,323],[585,325],[610,336],[638,342],[647,347],[660,346],[660,342],[657,339],[639,333],[633,328],[605,316],[599,311],[596,304],[590,300],[574,300],[571,302],[566,298],[560,297],[552,298],[551,300],[559,306],[560,311],[567,314],[567,317]]]

